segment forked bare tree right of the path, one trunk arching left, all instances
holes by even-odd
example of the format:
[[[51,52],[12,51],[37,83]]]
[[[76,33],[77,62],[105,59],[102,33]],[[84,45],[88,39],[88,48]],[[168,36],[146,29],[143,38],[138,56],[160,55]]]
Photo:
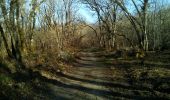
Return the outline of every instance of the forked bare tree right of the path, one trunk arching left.
[[[124,1],[114,0],[121,9],[125,12],[125,15],[131,22],[138,39],[138,46],[140,49],[148,50],[148,34],[147,34],[147,11],[149,0],[140,1],[140,6],[137,5],[137,2],[131,0],[138,16],[133,16],[133,14],[125,6]],[[138,2],[139,3],[139,2]],[[139,8],[141,7],[141,8]]]

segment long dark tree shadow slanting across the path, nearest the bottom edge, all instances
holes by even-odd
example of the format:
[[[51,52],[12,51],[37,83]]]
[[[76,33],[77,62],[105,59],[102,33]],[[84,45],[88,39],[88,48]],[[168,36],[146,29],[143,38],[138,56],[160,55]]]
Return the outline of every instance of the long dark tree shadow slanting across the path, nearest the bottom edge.
[[[55,86],[63,87],[65,89],[74,89],[74,90],[78,90],[78,91],[83,91],[83,92],[93,94],[93,95],[103,97],[103,98],[110,98],[110,99],[112,98],[113,99],[114,97],[124,97],[127,99],[157,99],[157,97],[140,96],[140,95],[135,95],[135,94],[130,95],[130,94],[126,94],[126,93],[121,93],[119,91],[111,91],[111,90],[107,91],[107,90],[92,89],[92,88],[83,87],[80,85],[70,85],[70,84],[62,83],[57,80],[48,79],[48,78],[45,78],[42,76],[40,78],[41,78],[41,80],[51,83]],[[115,85],[115,87],[118,87],[118,86],[120,86],[120,85],[117,85],[117,86]]]

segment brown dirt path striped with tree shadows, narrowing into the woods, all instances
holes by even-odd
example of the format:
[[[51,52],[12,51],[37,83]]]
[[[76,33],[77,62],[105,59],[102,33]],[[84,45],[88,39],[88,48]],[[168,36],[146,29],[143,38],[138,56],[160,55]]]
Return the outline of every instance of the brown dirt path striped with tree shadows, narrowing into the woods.
[[[48,80],[53,99],[159,99],[150,88],[133,86],[125,76],[127,72],[106,64],[101,52],[80,52],[78,55],[69,72]]]

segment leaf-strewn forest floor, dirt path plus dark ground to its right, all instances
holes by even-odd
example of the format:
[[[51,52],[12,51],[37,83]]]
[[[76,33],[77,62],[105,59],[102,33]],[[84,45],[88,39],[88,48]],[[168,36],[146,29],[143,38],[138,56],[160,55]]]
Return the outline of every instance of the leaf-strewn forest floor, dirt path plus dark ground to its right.
[[[22,88],[28,87],[27,90],[33,92],[25,90],[21,98],[170,100],[170,52],[151,54],[144,65],[138,59],[107,57],[102,51],[87,50],[77,55],[66,72],[54,74],[42,70],[35,79],[17,82],[16,88],[21,88],[20,84],[29,84]]]

